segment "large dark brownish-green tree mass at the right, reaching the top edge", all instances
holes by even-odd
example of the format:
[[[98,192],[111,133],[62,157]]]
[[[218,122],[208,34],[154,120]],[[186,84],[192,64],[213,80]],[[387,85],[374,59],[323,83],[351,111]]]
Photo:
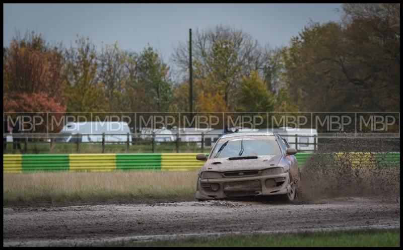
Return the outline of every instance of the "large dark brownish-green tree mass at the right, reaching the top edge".
[[[284,50],[292,98],[306,111],[399,110],[399,5],[343,11],[342,23],[311,23]]]

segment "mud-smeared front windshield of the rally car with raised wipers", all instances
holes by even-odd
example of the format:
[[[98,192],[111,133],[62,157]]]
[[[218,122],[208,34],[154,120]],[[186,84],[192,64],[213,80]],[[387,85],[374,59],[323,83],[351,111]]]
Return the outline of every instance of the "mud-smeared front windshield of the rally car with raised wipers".
[[[246,157],[280,154],[274,136],[245,136],[222,138],[212,153],[212,158]]]

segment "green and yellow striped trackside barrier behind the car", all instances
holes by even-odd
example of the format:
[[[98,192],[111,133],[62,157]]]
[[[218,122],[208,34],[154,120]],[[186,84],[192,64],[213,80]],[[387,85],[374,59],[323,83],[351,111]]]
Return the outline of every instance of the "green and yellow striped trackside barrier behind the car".
[[[375,165],[382,168],[400,166],[400,152],[325,153],[329,167],[333,163],[349,162],[353,167]],[[104,153],[104,154],[4,154],[4,173],[32,172],[112,172],[126,170],[189,171],[198,170],[205,163],[196,160],[197,153]],[[311,153],[295,156],[303,167]],[[329,162],[327,162],[329,161]],[[309,161],[308,161],[309,162]]]

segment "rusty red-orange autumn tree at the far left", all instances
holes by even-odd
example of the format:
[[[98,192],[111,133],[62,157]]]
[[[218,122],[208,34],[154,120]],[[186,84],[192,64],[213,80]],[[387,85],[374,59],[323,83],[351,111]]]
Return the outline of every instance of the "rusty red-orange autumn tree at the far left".
[[[66,106],[60,44],[50,46],[40,34],[32,32],[23,39],[14,38],[3,53],[4,111],[30,112],[44,120],[46,112],[61,116]],[[35,132],[48,131],[46,122],[36,129]]]

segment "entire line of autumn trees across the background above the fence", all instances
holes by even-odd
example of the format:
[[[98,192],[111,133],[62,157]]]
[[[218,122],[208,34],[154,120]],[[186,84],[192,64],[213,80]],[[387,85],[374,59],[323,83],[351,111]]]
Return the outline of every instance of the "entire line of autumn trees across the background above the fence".
[[[223,25],[196,30],[195,111],[398,111],[399,8],[344,4],[341,22],[310,23],[276,49]],[[150,46],[136,53],[115,43],[97,52],[78,37],[63,52],[31,33],[3,48],[5,111],[188,111],[187,42],[173,60],[183,73],[177,82]]]

